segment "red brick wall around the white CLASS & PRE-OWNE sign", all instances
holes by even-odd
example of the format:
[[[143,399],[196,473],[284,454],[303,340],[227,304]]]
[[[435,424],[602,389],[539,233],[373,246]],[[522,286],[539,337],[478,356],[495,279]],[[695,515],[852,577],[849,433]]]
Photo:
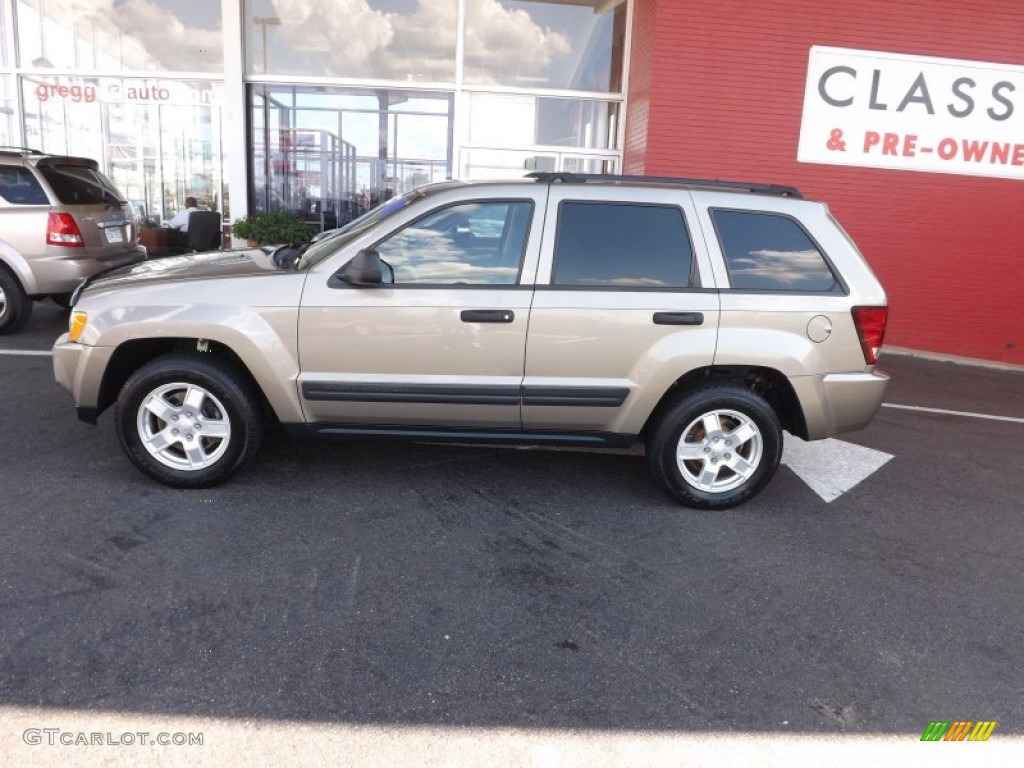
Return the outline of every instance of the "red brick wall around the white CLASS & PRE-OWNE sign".
[[[885,285],[888,343],[1024,365],[1024,181],[797,162],[812,45],[1024,66],[1024,2],[636,5],[627,172],[795,184]]]

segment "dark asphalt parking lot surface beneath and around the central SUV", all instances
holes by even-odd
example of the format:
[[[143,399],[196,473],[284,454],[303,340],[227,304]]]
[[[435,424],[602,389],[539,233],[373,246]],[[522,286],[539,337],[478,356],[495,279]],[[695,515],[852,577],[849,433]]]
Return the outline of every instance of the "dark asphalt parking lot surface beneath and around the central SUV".
[[[841,439],[892,458],[830,503],[788,466],[710,513],[635,454],[283,436],[180,492],[10,353],[65,323],[0,338],[0,708],[1024,733],[1024,372],[885,356],[888,404]]]

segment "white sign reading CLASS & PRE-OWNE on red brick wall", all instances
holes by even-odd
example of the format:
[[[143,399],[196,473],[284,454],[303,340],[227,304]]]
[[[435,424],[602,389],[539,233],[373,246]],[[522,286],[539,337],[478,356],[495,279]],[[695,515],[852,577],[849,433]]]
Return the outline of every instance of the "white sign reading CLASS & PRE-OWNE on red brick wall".
[[[814,46],[797,159],[1024,178],[1024,67]]]

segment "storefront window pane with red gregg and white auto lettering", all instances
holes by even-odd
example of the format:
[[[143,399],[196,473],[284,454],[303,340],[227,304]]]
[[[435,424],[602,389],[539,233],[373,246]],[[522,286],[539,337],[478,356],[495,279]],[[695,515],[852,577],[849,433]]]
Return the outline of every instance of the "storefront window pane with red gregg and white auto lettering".
[[[204,81],[25,77],[28,146],[93,158],[160,222],[195,197],[222,210],[223,87]]]

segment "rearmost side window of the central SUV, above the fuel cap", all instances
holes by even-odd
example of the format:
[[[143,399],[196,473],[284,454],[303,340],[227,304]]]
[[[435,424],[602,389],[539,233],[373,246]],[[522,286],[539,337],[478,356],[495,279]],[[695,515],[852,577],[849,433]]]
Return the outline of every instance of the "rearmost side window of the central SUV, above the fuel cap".
[[[713,211],[733,288],[748,291],[831,291],[824,256],[793,219],[751,211]]]

